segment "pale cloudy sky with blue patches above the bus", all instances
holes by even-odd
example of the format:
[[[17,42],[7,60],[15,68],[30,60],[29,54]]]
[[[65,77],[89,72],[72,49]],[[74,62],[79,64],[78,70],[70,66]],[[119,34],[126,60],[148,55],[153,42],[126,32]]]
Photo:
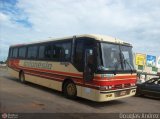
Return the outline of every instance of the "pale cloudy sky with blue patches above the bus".
[[[0,60],[12,44],[103,34],[160,56],[160,0],[0,0]]]

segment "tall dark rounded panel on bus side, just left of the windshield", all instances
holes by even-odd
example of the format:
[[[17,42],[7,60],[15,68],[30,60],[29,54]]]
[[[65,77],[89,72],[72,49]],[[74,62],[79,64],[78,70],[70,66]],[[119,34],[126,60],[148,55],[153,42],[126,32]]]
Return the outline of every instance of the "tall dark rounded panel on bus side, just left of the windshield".
[[[86,49],[85,50],[85,58],[84,58],[84,80],[85,81],[91,81],[93,80],[94,77],[94,72],[93,72],[93,49]]]

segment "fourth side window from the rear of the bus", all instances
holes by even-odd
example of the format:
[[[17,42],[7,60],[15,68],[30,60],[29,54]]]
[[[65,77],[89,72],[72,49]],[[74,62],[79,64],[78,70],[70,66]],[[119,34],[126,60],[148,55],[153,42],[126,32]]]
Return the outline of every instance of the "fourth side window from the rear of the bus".
[[[35,59],[36,57],[37,57],[37,46],[29,46],[28,47],[27,58]]]

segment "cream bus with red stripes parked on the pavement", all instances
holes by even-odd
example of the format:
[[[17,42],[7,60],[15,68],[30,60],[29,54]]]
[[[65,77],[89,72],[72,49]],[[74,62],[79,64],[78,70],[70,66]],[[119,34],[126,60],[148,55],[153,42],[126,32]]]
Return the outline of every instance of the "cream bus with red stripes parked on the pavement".
[[[105,35],[85,34],[17,44],[9,48],[9,72],[64,93],[104,102],[136,93],[132,45]]]

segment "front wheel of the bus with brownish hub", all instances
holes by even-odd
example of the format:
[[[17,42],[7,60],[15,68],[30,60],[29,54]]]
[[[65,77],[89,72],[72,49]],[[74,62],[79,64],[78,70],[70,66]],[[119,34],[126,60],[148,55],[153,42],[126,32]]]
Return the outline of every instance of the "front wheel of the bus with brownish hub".
[[[71,99],[76,98],[77,95],[76,85],[71,81],[66,82],[66,84],[64,85],[64,94],[68,98]]]

